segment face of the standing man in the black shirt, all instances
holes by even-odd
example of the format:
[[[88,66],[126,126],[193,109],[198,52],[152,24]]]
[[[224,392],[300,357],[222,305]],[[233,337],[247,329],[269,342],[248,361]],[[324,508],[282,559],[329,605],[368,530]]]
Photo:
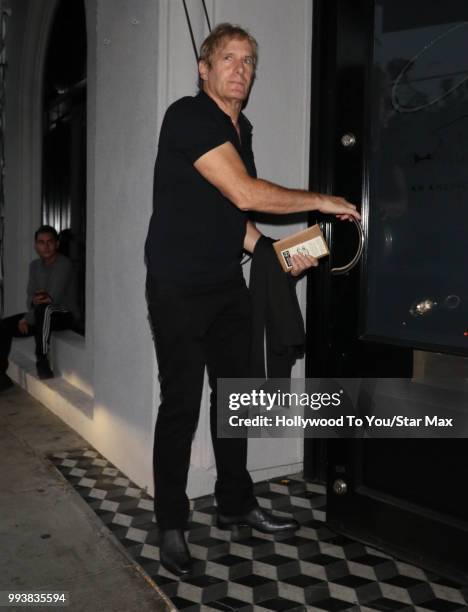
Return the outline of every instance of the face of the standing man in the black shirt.
[[[255,73],[252,47],[248,40],[226,39],[214,52],[211,66],[200,62],[199,69],[208,95],[223,103],[243,102]]]

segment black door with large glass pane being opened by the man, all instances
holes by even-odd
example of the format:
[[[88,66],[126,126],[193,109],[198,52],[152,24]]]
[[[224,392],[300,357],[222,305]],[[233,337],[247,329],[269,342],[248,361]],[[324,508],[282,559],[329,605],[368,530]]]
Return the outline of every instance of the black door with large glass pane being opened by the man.
[[[356,237],[325,220],[307,376],[406,378],[420,401],[455,393],[468,411],[468,3],[314,6],[310,185],[360,206],[366,246],[360,268],[333,277]],[[439,384],[437,368],[428,381],[413,367],[438,352],[452,377]],[[326,477],[332,528],[466,580],[466,439],[306,441],[304,472]]]

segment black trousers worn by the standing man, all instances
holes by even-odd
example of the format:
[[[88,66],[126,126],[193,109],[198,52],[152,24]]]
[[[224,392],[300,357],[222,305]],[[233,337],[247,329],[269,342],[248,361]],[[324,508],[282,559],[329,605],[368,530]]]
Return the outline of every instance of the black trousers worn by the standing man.
[[[147,299],[161,384],[154,437],[156,520],[183,528],[185,492],[205,366],[211,386],[210,425],[216,460],[215,496],[222,514],[255,505],[247,471],[247,440],[217,438],[216,380],[249,376],[251,307],[243,279],[209,287],[162,285],[148,276]]]

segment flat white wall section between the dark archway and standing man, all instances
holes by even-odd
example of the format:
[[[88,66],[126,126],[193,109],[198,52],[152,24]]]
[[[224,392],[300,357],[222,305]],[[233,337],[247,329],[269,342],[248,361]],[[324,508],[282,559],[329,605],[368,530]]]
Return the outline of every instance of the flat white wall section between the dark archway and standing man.
[[[152,484],[154,349],[143,245],[152,201],[158,15],[152,0],[98,0],[94,143],[95,410],[92,441]]]

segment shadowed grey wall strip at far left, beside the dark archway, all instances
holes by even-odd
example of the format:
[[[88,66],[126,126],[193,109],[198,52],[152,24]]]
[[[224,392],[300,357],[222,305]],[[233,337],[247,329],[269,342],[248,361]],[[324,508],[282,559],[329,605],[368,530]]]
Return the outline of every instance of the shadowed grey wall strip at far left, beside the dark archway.
[[[5,315],[25,309],[32,235],[40,224],[41,37],[54,0],[14,0],[7,20]]]

